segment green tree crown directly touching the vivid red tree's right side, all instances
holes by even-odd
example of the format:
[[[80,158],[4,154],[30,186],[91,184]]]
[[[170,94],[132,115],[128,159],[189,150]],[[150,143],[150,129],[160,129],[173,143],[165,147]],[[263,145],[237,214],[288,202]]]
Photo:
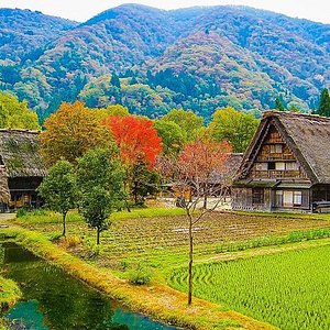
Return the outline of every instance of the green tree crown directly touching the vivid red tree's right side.
[[[185,132],[174,121],[154,120],[154,128],[162,138],[163,154],[177,154],[185,143]]]

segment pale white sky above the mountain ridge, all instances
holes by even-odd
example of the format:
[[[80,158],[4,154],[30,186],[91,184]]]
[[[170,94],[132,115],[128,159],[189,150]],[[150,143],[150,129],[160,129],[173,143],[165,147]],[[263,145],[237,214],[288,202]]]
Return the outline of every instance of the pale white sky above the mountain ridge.
[[[293,18],[330,23],[330,0],[0,0],[0,8],[38,10],[45,14],[84,22],[122,3],[141,3],[161,9],[244,4],[284,13]]]

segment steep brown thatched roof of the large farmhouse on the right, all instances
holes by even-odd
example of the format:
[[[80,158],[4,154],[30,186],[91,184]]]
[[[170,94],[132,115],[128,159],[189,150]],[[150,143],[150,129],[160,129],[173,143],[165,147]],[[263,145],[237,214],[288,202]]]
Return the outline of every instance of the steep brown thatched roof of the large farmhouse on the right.
[[[296,112],[265,111],[257,132],[246,150],[241,172],[252,166],[271,125],[284,136],[312,184],[330,184],[330,118]]]

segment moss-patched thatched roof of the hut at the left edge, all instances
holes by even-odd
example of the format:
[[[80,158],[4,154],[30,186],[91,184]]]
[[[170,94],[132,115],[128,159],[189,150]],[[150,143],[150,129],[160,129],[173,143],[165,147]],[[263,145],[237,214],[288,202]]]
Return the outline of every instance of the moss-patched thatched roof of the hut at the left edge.
[[[26,130],[0,130],[0,164],[8,177],[43,177],[45,164],[38,153],[38,133]]]

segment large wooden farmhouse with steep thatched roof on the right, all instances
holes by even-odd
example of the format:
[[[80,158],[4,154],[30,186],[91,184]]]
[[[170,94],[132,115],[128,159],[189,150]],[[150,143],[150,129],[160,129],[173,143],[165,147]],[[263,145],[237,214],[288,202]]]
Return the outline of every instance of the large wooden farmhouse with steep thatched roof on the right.
[[[266,111],[234,179],[233,209],[330,205],[330,119]]]

